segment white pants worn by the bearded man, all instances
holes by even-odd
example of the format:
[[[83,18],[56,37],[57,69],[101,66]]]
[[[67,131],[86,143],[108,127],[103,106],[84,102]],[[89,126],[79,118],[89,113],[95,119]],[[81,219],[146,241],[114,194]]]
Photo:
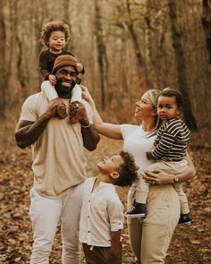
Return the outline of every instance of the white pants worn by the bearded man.
[[[56,227],[61,219],[63,264],[80,264],[79,223],[83,183],[71,194],[58,199],[40,196],[30,191],[30,218],[33,230],[33,249],[30,264],[48,264]],[[58,260],[58,262],[60,262]]]

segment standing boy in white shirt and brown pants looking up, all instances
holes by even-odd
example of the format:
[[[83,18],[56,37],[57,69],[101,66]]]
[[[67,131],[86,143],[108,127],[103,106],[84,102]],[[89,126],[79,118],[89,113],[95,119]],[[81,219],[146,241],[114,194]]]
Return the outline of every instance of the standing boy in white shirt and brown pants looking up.
[[[123,206],[114,185],[129,186],[138,167],[127,152],[97,163],[99,174],[84,183],[80,242],[87,264],[122,263]]]

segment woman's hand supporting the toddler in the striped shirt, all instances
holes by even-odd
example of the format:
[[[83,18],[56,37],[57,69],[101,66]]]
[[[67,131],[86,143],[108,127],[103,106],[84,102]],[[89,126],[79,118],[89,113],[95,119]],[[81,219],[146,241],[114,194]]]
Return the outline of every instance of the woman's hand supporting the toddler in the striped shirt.
[[[165,184],[173,184],[173,176],[165,173],[164,171],[145,171],[145,175],[143,179],[146,183],[152,185],[165,185]]]

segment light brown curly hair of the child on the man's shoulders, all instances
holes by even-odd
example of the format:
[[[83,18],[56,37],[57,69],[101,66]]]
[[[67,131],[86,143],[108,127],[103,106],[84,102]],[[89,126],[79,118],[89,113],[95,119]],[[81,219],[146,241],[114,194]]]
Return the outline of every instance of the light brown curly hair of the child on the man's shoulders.
[[[62,31],[64,33],[66,42],[71,37],[70,26],[68,24],[64,23],[63,21],[50,21],[42,27],[41,31],[40,42],[44,46],[49,47],[48,40],[53,31]]]

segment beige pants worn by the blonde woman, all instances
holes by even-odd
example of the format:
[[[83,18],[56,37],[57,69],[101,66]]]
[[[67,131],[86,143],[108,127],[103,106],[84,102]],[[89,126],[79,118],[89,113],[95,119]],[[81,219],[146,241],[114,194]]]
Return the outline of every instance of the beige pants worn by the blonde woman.
[[[129,192],[129,205],[135,188]],[[165,255],[180,217],[180,202],[172,185],[150,186],[145,218],[128,218],[131,247],[138,263],[165,263]]]

